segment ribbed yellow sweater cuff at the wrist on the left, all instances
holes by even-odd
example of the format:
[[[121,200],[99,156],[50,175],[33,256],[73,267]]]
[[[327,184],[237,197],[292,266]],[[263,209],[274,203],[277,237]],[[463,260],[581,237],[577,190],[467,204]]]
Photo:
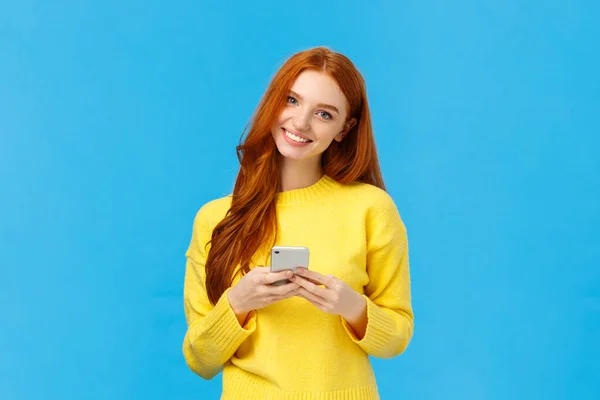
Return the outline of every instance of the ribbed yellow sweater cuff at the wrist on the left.
[[[248,314],[244,326],[240,326],[227,297],[230,290],[231,288],[223,293],[212,311],[206,315],[207,333],[225,353],[235,352],[256,329],[254,311]]]

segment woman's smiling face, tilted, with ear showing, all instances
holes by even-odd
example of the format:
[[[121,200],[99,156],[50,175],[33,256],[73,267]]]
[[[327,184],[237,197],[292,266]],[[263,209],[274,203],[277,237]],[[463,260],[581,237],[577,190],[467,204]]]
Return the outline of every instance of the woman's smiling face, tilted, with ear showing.
[[[356,123],[347,121],[348,101],[324,72],[302,72],[272,128],[279,152],[294,160],[319,160],[333,140],[342,141]]]

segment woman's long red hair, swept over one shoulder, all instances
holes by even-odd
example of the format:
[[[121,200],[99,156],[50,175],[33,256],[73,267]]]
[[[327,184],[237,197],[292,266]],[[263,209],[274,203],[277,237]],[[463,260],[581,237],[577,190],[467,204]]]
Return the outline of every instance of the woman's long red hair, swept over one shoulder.
[[[370,183],[385,190],[379,168],[364,80],[352,61],[325,47],[296,53],[273,77],[237,146],[240,170],[231,208],[214,228],[206,260],[206,289],[214,305],[233,283],[238,265],[250,271],[253,255],[277,239],[279,152],[271,135],[294,81],[305,70],[329,74],[348,100],[348,120],[357,123],[323,153],[323,172],[340,183]]]

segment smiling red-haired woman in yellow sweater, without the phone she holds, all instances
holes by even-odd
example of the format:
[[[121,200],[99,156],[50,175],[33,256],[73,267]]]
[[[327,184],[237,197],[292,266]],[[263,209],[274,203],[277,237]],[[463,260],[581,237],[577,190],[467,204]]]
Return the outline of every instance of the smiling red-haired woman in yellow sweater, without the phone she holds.
[[[197,213],[183,353],[222,399],[377,399],[369,355],[413,333],[407,236],[385,192],[365,84],[345,56],[292,56],[238,146],[233,194]],[[308,270],[271,273],[274,245]],[[289,283],[270,283],[289,278]]]

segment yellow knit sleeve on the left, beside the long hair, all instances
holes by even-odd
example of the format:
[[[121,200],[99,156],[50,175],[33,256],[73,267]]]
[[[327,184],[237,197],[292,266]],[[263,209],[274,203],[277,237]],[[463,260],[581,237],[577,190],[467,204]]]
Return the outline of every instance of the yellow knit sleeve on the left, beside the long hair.
[[[183,355],[189,368],[204,379],[214,378],[256,328],[253,312],[244,326],[240,326],[229,305],[227,294],[230,289],[214,306],[208,300],[204,265],[210,232],[206,207],[203,207],[194,219],[192,238],[186,251],[183,297],[188,329],[183,341]]]

